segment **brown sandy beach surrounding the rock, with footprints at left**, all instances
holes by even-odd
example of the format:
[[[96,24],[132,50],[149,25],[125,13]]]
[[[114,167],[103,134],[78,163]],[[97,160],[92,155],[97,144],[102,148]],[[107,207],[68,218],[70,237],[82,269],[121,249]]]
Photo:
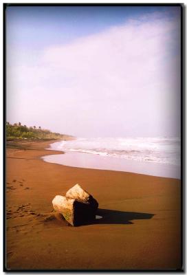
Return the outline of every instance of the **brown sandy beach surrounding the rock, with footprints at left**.
[[[8,270],[181,267],[179,180],[43,162],[61,153],[45,150],[50,143],[8,143],[17,146],[7,148]],[[52,199],[76,183],[96,197],[103,218],[73,228],[54,217]]]

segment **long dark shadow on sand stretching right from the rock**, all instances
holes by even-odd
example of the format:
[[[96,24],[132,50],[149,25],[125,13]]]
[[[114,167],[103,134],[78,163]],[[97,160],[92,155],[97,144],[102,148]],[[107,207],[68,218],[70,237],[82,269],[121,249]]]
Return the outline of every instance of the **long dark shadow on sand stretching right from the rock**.
[[[151,219],[154,214],[142,212],[122,212],[109,209],[98,209],[94,224],[133,224],[133,219]],[[92,223],[92,224],[93,224]],[[91,224],[91,223],[89,223]]]

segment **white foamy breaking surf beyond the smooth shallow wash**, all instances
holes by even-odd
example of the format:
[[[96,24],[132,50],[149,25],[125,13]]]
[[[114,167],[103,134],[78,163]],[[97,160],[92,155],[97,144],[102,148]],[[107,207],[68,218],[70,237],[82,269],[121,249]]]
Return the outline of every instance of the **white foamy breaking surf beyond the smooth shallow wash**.
[[[52,148],[65,152],[180,166],[180,145],[178,137],[98,137],[58,142],[52,144]]]

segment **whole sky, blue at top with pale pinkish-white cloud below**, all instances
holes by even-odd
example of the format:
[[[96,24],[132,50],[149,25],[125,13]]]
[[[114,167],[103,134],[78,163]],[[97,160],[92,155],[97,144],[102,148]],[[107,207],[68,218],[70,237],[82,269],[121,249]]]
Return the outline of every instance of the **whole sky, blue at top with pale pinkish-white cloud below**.
[[[180,8],[6,9],[6,116],[77,137],[180,135]]]

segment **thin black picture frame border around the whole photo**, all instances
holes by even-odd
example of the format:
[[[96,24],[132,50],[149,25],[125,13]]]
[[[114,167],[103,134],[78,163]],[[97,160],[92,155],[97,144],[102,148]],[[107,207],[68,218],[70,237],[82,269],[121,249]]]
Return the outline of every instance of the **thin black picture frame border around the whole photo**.
[[[5,225],[5,152],[6,152],[6,8],[12,7],[51,7],[51,6],[177,6],[181,9],[181,268],[179,270],[9,270],[6,267],[6,225]],[[185,45],[185,12],[186,8],[182,3],[3,3],[3,272],[184,272],[185,271],[185,151],[186,151],[186,119],[185,119],[185,60],[186,60],[186,45]]]

